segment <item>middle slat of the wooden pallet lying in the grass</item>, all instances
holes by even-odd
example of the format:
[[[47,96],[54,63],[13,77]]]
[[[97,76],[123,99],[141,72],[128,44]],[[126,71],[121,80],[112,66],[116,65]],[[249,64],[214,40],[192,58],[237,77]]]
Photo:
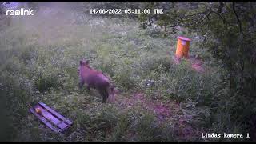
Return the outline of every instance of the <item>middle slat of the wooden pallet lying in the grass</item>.
[[[47,120],[49,120],[50,122],[52,122],[55,126],[58,126],[59,128],[66,129],[66,127],[68,127],[68,125],[62,121],[60,121],[58,118],[55,118],[53,114],[51,114],[50,112],[46,111],[43,107],[37,105],[34,106],[35,108],[40,108],[42,111],[42,116],[44,118],[46,118]]]

